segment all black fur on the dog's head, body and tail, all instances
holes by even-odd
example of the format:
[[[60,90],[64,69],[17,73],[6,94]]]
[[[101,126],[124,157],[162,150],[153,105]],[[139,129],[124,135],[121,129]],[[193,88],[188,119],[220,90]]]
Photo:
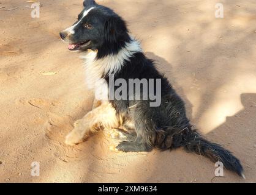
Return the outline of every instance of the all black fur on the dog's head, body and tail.
[[[111,9],[90,0],[85,1],[84,5],[86,9],[92,6],[96,6],[96,9],[83,18],[81,26],[77,27],[77,32],[72,37],[73,42],[92,40],[89,46],[81,48],[80,51],[97,49],[97,58],[101,59],[107,55],[117,54],[126,43],[132,41],[125,21]],[[83,29],[82,24],[85,23],[91,23],[93,29]],[[238,158],[219,144],[205,140],[192,128],[186,116],[183,100],[173,90],[167,78],[157,71],[154,62],[147,59],[142,52],[135,53],[124,63],[122,69],[115,73],[115,80],[119,78],[127,82],[128,79],[161,79],[162,81],[162,103],[159,107],[150,107],[149,101],[142,100],[111,101],[116,112],[134,122],[135,126],[135,141],[123,141],[117,147],[120,151],[151,151],[154,147],[164,151],[184,147],[187,151],[204,155],[214,162],[222,161],[225,168],[242,176],[243,167]],[[104,79],[109,82],[108,74]]]

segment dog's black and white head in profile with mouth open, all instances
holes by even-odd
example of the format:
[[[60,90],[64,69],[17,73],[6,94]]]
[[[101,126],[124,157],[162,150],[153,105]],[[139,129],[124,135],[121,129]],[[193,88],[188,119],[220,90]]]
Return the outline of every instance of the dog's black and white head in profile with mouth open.
[[[129,41],[126,23],[113,10],[94,0],[85,0],[83,6],[75,24],[59,33],[62,40],[69,43],[69,50],[111,51],[111,47],[118,49],[118,46]]]

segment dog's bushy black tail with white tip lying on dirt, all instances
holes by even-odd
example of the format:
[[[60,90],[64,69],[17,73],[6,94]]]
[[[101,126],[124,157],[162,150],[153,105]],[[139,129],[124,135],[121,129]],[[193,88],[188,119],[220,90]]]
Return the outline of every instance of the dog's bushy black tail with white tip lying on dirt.
[[[186,141],[184,148],[189,152],[203,155],[216,163],[220,161],[226,169],[236,172],[239,176],[244,177],[243,166],[238,158],[232,152],[216,143],[211,143],[202,138],[197,132],[192,132],[194,136]]]

